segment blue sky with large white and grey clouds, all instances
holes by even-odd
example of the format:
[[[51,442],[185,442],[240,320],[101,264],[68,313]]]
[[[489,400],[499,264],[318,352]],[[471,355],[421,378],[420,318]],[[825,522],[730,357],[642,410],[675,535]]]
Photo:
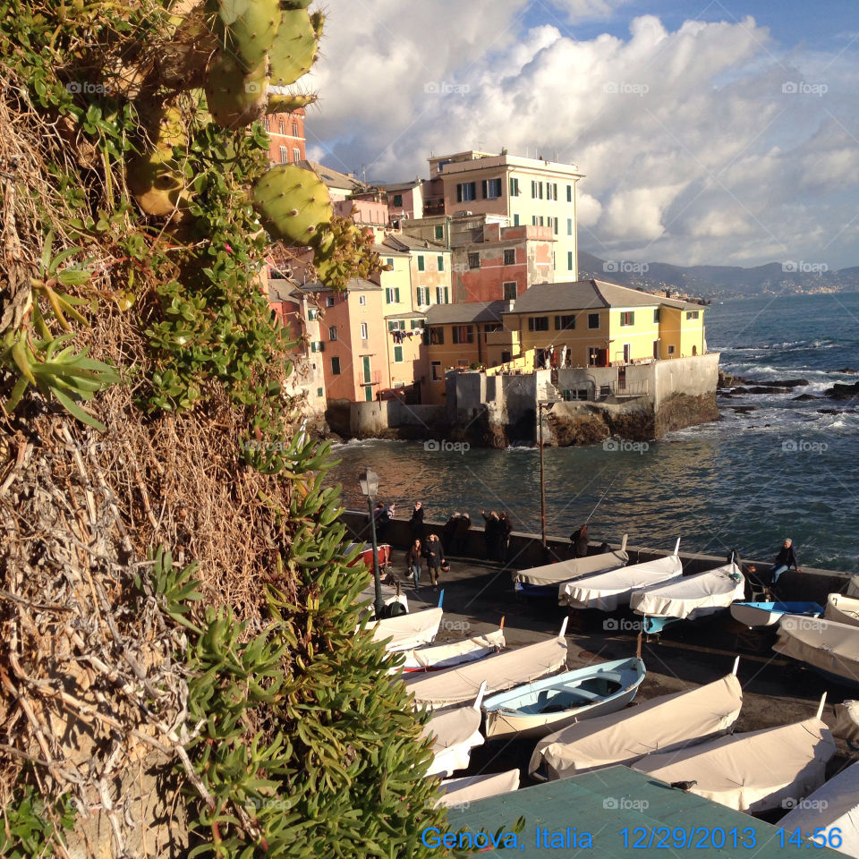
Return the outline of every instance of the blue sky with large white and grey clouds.
[[[396,182],[463,149],[579,167],[581,249],[859,265],[856,0],[326,0],[308,157]]]

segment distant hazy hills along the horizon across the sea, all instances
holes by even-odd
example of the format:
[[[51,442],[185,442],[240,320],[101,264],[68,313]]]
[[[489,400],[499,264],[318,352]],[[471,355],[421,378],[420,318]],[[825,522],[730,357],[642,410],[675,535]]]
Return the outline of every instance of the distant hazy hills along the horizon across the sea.
[[[859,266],[838,271],[817,271],[797,261],[786,270],[779,262],[765,266],[672,266],[665,262],[634,263],[605,260],[579,251],[579,277],[598,277],[623,286],[646,290],[672,289],[707,299],[784,293],[859,292]]]

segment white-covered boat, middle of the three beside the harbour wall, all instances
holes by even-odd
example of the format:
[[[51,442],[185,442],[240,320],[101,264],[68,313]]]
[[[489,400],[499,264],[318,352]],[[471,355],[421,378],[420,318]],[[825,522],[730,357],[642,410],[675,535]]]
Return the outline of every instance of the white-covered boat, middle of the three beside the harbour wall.
[[[629,604],[634,591],[654,584],[665,583],[683,575],[683,562],[678,556],[680,540],[677,540],[674,554],[660,557],[644,564],[624,566],[608,573],[589,575],[576,582],[562,584],[557,601],[570,608],[597,608],[600,611],[614,611]]]

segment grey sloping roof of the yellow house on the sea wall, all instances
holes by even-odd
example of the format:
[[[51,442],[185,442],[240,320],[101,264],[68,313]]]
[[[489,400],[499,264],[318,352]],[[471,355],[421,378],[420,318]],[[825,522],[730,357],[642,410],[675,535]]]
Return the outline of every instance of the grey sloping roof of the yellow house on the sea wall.
[[[513,313],[540,310],[591,310],[601,307],[654,307],[667,305],[701,310],[700,304],[681,302],[664,295],[642,293],[604,280],[575,280],[562,284],[535,284],[516,299]]]

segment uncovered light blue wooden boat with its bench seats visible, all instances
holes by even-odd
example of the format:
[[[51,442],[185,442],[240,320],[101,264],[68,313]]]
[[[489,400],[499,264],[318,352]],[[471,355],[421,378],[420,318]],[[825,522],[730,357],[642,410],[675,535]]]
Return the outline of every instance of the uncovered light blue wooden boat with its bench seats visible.
[[[517,686],[483,702],[486,738],[537,738],[623,710],[644,679],[641,659],[617,659]]]

